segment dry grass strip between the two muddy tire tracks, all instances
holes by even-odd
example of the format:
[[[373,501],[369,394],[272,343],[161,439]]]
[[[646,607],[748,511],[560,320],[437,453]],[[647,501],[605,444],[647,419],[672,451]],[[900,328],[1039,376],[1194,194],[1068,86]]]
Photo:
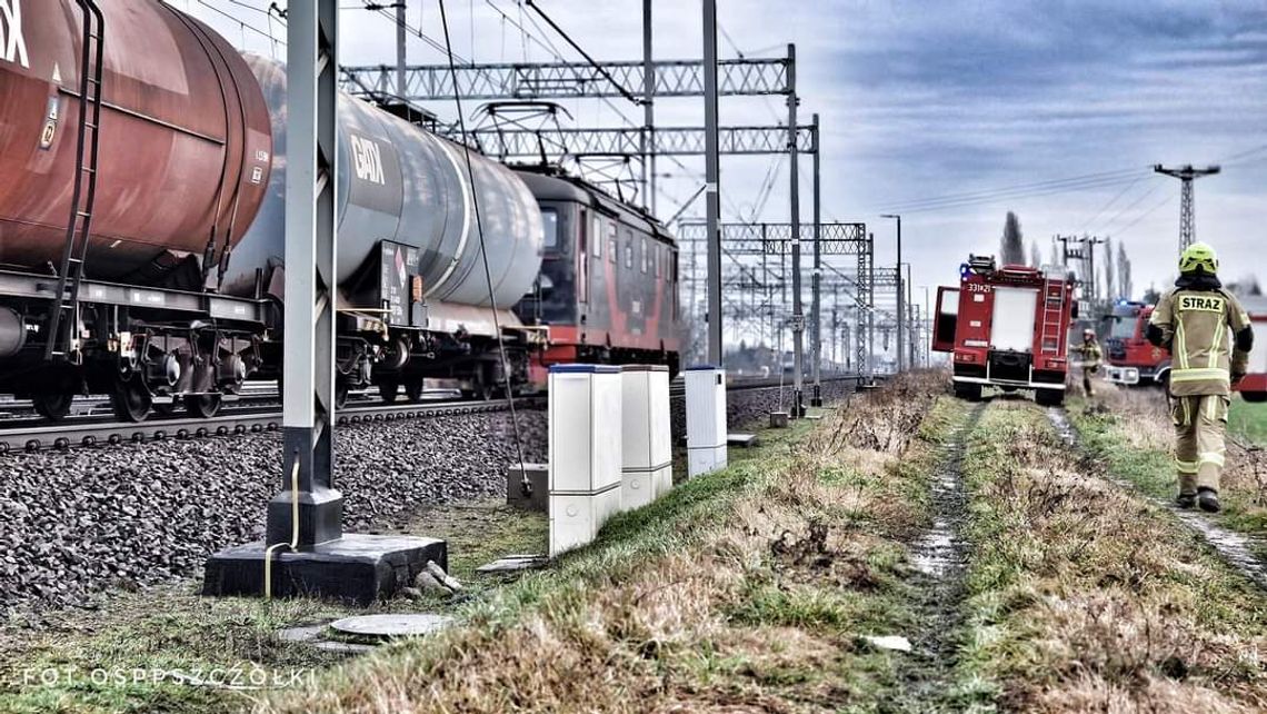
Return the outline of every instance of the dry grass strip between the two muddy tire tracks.
[[[1267,599],[1024,405],[973,439],[972,661],[1024,711],[1267,708]]]

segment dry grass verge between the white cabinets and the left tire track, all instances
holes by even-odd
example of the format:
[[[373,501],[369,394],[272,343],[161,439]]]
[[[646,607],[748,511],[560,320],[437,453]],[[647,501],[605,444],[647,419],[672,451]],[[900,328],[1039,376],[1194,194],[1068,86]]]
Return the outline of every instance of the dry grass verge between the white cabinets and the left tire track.
[[[855,642],[901,591],[888,534],[926,517],[895,491],[921,478],[896,465],[931,406],[920,393],[902,380],[858,398],[777,458],[732,467],[725,492],[699,497],[710,476],[651,506],[670,514],[660,531],[604,536],[473,606],[469,626],[258,710],[832,711],[874,696],[859,677],[887,665]]]

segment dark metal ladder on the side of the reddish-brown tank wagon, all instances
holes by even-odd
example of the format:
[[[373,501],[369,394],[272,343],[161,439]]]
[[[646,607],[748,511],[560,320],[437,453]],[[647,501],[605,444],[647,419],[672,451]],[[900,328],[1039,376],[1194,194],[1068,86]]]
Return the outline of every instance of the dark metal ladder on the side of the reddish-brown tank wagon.
[[[77,0],[84,11],[84,43],[80,56],[80,108],[76,127],[75,190],[71,194],[71,216],[66,226],[66,247],[57,274],[57,293],[49,316],[48,342],[44,359],[77,360],[73,330],[77,323],[80,285],[87,257],[92,226],[92,203],[96,199],[98,131],[101,126],[101,67],[104,63],[104,18],[94,0]],[[85,185],[86,183],[86,185]],[[67,320],[67,312],[71,318]],[[63,339],[65,332],[65,339]]]

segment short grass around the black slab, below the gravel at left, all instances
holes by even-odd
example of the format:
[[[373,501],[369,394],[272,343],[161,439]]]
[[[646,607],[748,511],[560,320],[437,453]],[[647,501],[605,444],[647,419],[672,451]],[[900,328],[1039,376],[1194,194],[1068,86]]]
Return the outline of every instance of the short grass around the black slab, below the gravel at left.
[[[431,509],[404,531],[443,534],[451,573],[468,585],[466,597],[481,597],[500,583],[474,577],[474,568],[546,547],[544,515],[493,502]],[[199,582],[180,582],[118,592],[100,610],[0,626],[0,711],[238,711],[253,705],[260,682],[294,686],[347,659],[283,640],[279,629],[348,614],[461,606],[433,596],[350,610],[310,599],[204,599],[199,588]]]

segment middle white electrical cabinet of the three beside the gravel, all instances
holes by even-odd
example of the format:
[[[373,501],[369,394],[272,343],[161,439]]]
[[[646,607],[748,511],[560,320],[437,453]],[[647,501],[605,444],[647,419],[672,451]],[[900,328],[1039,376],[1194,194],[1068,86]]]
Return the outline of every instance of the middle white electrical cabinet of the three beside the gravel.
[[[625,468],[621,510],[646,506],[673,487],[673,444],[669,426],[669,368],[625,365],[622,444]]]

